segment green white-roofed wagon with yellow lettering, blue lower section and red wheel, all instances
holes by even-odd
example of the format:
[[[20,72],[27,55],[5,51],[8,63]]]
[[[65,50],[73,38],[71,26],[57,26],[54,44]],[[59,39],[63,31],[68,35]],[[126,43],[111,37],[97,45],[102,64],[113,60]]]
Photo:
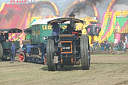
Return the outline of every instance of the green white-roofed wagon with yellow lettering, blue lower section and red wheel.
[[[30,28],[24,30],[29,38],[23,40],[22,52],[19,54],[20,61],[46,64],[47,38],[52,36],[53,31],[52,26],[47,25],[50,20],[52,18],[37,20]]]

